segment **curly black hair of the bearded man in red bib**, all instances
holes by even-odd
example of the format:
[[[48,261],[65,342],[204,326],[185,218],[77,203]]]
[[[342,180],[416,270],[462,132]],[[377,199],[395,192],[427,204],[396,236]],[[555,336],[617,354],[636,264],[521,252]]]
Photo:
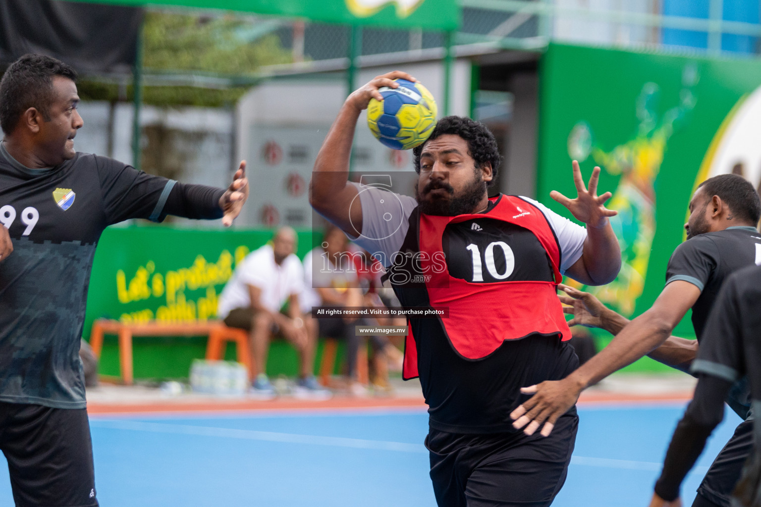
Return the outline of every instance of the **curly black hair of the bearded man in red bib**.
[[[422,154],[425,143],[447,134],[459,135],[460,138],[467,141],[468,151],[473,160],[476,161],[477,168],[481,169],[487,163],[492,165],[492,181],[489,182],[488,186],[494,185],[497,181],[499,164],[502,163],[502,156],[497,149],[497,141],[489,128],[486,128],[486,125],[464,116],[444,116],[436,123],[431,136],[423,144],[412,148],[416,172],[420,173],[420,154]]]

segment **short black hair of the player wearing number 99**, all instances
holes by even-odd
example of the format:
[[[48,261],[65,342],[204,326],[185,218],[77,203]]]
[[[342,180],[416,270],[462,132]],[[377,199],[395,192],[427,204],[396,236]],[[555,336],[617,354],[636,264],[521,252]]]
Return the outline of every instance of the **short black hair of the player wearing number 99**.
[[[21,115],[36,107],[48,122],[53,103],[53,76],[77,80],[76,71],[46,55],[27,54],[11,63],[0,80],[0,128],[13,133]]]

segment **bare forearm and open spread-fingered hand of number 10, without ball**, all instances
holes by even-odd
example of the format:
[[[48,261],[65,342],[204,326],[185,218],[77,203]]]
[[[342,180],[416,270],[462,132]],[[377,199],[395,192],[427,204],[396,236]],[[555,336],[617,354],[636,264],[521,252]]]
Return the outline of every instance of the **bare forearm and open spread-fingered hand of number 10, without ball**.
[[[569,199],[555,190],[549,192],[549,196],[568,208],[576,220],[587,224],[584,253],[565,271],[565,274],[585,285],[609,284],[618,276],[621,269],[621,248],[608,220],[608,217],[613,217],[618,212],[605,208],[605,201],[611,196],[610,192],[597,195],[599,167],[595,167],[592,171],[587,190],[584,179],[581,179],[578,162],[574,160],[573,179],[578,192],[575,199]]]

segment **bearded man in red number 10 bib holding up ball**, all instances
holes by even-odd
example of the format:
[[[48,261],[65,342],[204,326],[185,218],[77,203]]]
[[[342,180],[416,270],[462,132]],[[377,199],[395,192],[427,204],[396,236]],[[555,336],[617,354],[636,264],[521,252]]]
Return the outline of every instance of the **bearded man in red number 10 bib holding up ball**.
[[[575,408],[547,438],[514,429],[510,413],[526,399],[523,385],[578,365],[556,285],[562,274],[592,285],[618,274],[610,192],[596,194],[599,168],[587,190],[577,163],[578,198],[552,192],[586,229],[529,198],[489,198],[501,162],[494,136],[457,116],[440,119],[414,149],[416,198],[349,182],[358,116],[371,97],[382,100],[380,87],[400,86],[395,78],[416,81],[390,72],[345,101],[317,156],[310,202],[387,267],[403,306],[447,309],[409,318],[404,364],[429,406],[438,505],[549,505],[571,459]]]

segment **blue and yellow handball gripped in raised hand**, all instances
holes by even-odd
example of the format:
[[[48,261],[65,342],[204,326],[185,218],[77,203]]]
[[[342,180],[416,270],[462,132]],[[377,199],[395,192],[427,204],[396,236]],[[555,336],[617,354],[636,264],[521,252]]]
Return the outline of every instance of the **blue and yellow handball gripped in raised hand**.
[[[395,79],[398,88],[381,87],[384,100],[368,105],[370,132],[387,147],[409,150],[428,139],[436,125],[436,101],[420,83]]]

